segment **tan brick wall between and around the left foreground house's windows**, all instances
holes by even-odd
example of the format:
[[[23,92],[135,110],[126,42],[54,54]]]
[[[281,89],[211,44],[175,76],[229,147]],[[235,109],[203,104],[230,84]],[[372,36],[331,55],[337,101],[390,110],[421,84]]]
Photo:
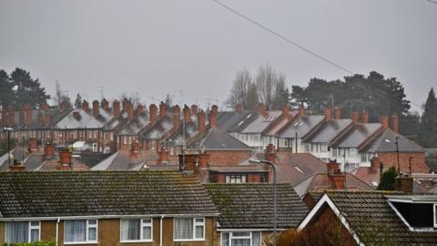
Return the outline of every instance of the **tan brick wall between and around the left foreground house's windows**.
[[[199,217],[200,218],[200,217]],[[147,219],[147,218],[141,218]],[[153,241],[144,242],[121,242],[120,241],[120,219],[97,219],[97,242],[86,242],[86,244],[74,243],[74,242],[64,242],[64,224],[65,220],[60,220],[58,226],[58,240],[57,245],[75,245],[75,246],[159,246],[160,245],[160,218],[153,218]],[[214,241],[218,238],[215,231],[215,219],[205,218],[205,240],[197,241],[174,241],[173,235],[173,221],[174,218],[164,218],[162,219],[162,245],[163,246],[212,246],[219,245],[214,244]],[[0,243],[5,242],[5,223],[0,222]],[[40,240],[50,241],[56,239],[56,220],[41,220],[40,227]]]

